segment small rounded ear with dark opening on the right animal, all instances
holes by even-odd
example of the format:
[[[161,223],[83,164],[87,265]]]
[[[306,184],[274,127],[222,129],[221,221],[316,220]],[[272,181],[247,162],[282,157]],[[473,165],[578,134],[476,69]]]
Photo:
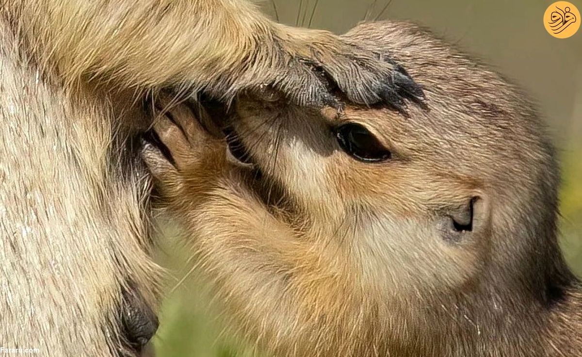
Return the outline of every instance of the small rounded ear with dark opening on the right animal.
[[[488,221],[489,209],[482,196],[470,197],[463,204],[443,210],[438,220],[442,239],[451,243],[482,235]]]

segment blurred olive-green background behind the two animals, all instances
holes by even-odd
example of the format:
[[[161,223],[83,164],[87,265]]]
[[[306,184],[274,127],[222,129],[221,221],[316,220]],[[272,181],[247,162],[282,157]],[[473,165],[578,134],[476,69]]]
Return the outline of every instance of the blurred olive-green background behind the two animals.
[[[390,1],[388,3],[388,1]],[[257,3],[280,22],[342,33],[364,19],[410,20],[469,52],[523,86],[538,100],[560,151],[560,222],[564,253],[582,275],[582,29],[560,40],[546,33],[541,0],[265,0]],[[582,10],[582,0],[570,1]],[[274,8],[276,7],[276,11]],[[582,19],[579,19],[579,21]],[[186,252],[168,232],[158,262],[168,269],[167,296],[154,338],[159,357],[251,355],[215,323],[204,284],[184,274]],[[176,285],[178,285],[177,288]]]

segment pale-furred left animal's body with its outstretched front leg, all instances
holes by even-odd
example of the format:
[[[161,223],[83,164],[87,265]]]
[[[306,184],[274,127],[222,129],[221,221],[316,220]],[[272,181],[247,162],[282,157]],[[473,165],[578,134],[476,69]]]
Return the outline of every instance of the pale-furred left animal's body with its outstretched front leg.
[[[271,84],[320,105],[318,68],[358,102],[407,86],[392,62],[243,0],[0,0],[2,346],[118,354],[121,296],[155,301],[144,93]]]

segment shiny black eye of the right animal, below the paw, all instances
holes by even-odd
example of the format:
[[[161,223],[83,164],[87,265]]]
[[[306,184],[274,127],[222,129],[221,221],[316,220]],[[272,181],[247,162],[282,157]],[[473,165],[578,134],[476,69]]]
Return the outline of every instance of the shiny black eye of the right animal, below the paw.
[[[388,160],[391,153],[370,131],[357,123],[346,123],[335,128],[339,147],[346,154],[363,162]]]

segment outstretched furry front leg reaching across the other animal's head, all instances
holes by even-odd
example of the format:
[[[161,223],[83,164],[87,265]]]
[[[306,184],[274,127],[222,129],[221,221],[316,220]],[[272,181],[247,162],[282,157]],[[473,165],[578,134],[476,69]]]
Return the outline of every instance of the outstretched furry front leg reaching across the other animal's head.
[[[302,105],[335,105],[329,82],[351,101],[423,97],[392,61],[327,31],[276,24],[246,0],[3,1],[0,19],[49,77],[76,89],[180,87],[230,100],[265,85]]]

